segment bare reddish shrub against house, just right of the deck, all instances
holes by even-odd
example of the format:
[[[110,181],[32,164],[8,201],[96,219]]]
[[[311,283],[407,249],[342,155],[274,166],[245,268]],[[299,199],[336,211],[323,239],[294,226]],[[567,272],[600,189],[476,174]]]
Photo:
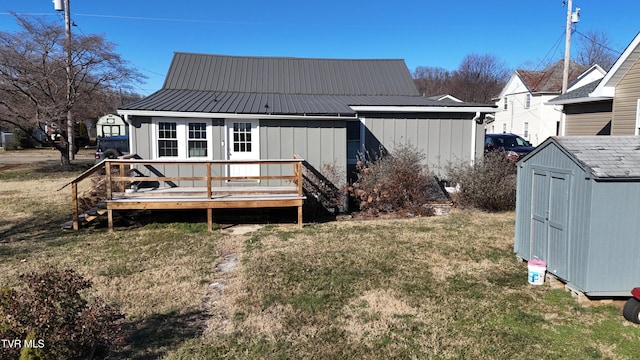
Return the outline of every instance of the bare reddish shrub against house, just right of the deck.
[[[424,160],[424,154],[409,144],[377,159],[361,156],[349,193],[370,215],[391,211],[433,215],[427,205],[433,176],[422,165]]]

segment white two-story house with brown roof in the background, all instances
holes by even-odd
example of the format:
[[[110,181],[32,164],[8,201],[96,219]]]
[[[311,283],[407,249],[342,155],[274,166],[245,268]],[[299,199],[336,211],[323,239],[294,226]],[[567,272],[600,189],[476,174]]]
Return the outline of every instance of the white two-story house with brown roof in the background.
[[[561,109],[545,103],[561,94],[563,67],[563,61],[558,61],[543,71],[516,70],[495,99],[501,111],[487,123],[486,132],[517,134],[534,146],[549,136],[562,135]],[[569,69],[569,90],[605,75],[598,65],[585,71],[583,66],[571,63]]]

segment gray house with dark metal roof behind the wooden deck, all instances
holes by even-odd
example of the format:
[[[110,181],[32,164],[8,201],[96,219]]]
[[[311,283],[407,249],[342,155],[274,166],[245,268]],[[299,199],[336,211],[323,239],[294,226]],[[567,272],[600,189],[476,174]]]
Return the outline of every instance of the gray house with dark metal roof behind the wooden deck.
[[[176,53],[162,89],[118,113],[131,152],[144,159],[295,155],[346,173],[359,152],[411,143],[439,173],[449,161],[482,157],[481,124],[494,110],[421,97],[403,60]]]

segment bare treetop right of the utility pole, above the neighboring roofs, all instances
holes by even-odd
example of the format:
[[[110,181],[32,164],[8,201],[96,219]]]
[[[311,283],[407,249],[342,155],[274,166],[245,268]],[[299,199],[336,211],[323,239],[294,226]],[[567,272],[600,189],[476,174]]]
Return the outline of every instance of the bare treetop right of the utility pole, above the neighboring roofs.
[[[576,32],[576,62],[586,67],[598,64],[609,71],[618,59],[618,53],[612,49],[609,37],[600,31]]]

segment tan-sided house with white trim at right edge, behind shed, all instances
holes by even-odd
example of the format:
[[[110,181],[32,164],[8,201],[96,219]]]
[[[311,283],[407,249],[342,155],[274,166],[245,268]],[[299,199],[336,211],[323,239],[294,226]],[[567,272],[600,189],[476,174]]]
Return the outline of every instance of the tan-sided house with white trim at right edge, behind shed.
[[[565,135],[640,135],[640,33],[611,70],[548,101],[561,105]]]

